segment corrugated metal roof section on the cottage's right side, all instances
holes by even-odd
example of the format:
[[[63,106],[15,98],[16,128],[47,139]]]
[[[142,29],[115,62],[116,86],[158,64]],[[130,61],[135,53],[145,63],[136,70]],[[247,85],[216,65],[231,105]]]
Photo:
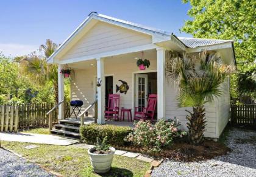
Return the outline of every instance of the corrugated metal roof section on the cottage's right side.
[[[215,44],[222,44],[226,42],[232,42],[230,40],[211,40],[211,39],[201,39],[201,38],[183,38],[177,37],[183,44],[190,48],[200,47],[200,46],[210,46]]]

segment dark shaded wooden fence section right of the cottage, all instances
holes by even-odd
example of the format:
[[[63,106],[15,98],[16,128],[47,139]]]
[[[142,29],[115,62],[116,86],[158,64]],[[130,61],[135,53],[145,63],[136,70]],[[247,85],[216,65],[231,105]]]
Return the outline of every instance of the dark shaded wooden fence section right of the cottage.
[[[232,126],[256,127],[256,105],[231,105]]]

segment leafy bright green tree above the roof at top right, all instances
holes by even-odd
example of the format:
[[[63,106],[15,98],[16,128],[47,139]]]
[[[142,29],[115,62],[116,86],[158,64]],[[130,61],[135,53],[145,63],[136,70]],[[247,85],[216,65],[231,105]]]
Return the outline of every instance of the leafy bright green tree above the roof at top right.
[[[197,38],[234,40],[236,60],[253,62],[256,54],[256,2],[253,0],[183,0],[191,4],[182,31]]]

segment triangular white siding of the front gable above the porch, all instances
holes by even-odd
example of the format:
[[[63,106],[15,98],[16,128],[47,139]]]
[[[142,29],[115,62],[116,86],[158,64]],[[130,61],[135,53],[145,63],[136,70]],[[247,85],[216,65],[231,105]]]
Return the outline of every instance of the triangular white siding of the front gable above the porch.
[[[149,35],[98,22],[62,58],[79,58],[112,50],[152,44]]]

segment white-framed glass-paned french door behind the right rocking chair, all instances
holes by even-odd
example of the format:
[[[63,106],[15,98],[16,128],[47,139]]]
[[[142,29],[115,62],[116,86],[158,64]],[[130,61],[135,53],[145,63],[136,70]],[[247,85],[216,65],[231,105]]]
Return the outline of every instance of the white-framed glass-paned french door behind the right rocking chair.
[[[135,77],[135,106],[142,111],[148,103],[148,75],[136,74]]]

